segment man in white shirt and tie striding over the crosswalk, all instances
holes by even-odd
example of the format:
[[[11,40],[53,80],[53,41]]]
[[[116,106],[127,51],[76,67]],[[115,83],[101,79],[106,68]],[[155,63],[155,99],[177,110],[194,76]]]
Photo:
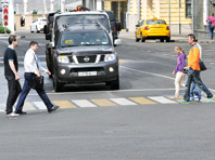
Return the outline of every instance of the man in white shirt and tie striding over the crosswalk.
[[[35,75],[37,75],[37,77],[40,77],[41,76],[40,70],[47,72],[49,76],[51,75],[49,70],[47,70],[46,68],[41,66],[41,63],[36,54],[37,51],[38,51],[38,42],[31,41],[29,44],[29,50],[26,52],[25,58],[24,58],[25,82],[23,85],[23,91],[17,102],[17,106],[15,108],[15,112],[20,115],[26,114],[23,111],[23,105],[24,105],[27,94],[29,93],[31,89],[33,77]],[[47,106],[47,110],[49,112],[56,110],[59,108],[59,106],[54,106],[51,103],[51,101],[47,96],[43,89],[35,89],[35,90],[37,91],[41,99],[43,101],[45,105]]]

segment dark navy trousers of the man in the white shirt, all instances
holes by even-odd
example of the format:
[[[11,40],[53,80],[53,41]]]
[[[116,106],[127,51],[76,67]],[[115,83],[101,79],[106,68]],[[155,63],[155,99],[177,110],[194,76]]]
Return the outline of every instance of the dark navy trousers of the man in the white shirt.
[[[31,89],[30,81],[31,81],[31,78],[33,78],[33,74],[31,72],[25,72],[24,76],[25,76],[25,82],[24,82],[24,85],[23,85],[23,91],[21,93],[21,96],[18,98],[17,105],[16,105],[16,108],[15,108],[15,111],[17,111],[17,112],[22,111],[25,98],[26,98],[27,94],[29,93],[29,91]],[[50,102],[50,99],[47,96],[45,90],[43,89],[39,89],[39,90],[37,89],[36,91],[39,94],[42,102],[45,103],[45,105],[47,106],[47,109],[51,109],[53,104]]]

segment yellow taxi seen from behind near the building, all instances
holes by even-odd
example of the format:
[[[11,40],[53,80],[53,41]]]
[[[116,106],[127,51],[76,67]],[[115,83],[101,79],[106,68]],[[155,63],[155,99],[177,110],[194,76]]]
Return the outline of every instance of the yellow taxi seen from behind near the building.
[[[143,19],[136,25],[136,42],[144,42],[146,39],[160,39],[161,42],[170,41],[170,29],[164,19],[150,18]]]

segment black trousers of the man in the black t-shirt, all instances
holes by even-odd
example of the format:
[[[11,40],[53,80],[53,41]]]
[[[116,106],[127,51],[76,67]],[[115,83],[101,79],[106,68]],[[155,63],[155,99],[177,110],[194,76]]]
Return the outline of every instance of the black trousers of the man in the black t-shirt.
[[[13,112],[13,105],[15,104],[20,93],[22,92],[21,84],[14,77],[7,76],[5,79],[8,80],[8,88],[9,88],[9,95],[7,98],[7,114]]]

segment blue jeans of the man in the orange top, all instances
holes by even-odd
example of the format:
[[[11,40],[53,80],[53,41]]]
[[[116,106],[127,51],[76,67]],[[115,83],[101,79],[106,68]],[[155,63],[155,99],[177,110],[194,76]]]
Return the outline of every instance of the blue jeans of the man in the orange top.
[[[184,99],[186,102],[190,101],[190,85],[191,85],[192,81],[194,81],[195,85],[198,85],[207,95],[207,98],[213,97],[213,94],[208,91],[208,89],[204,85],[204,83],[202,82],[202,80],[200,78],[200,70],[193,70],[192,68],[190,68],[188,70],[188,80],[187,80],[187,84],[186,84],[186,93],[184,95]]]

